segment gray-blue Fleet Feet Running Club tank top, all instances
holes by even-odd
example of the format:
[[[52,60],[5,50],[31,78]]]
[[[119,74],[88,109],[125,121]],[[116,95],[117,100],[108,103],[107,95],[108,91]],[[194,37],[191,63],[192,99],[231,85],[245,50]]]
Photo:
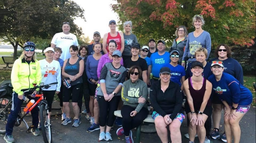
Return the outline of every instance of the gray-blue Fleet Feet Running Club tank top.
[[[78,74],[79,73],[79,61],[80,60],[82,60],[82,59],[79,57],[76,63],[70,64],[69,59],[68,59],[68,62],[65,66],[65,73],[67,73],[71,76],[74,76],[74,75]],[[69,78],[65,77],[65,79],[69,79]],[[70,84],[71,85],[76,85],[76,84],[79,84],[79,83],[83,83],[82,76],[80,76],[75,81],[72,81]]]

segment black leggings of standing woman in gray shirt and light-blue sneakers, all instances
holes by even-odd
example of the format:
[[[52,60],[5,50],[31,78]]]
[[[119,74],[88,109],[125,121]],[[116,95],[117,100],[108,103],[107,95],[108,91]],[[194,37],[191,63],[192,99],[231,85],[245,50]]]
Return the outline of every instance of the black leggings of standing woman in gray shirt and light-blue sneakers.
[[[110,102],[105,101],[104,96],[97,95],[97,97],[99,98],[100,126],[112,127],[115,121],[114,111],[117,110],[121,96],[114,96]]]

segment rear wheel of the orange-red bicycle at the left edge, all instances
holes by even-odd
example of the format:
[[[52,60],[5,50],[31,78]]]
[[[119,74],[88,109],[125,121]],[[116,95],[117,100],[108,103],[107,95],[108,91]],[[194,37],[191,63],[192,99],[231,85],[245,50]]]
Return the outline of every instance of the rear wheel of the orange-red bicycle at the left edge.
[[[12,97],[4,97],[0,99],[0,134],[5,134],[9,112],[11,110]],[[6,106],[9,106],[6,108]]]

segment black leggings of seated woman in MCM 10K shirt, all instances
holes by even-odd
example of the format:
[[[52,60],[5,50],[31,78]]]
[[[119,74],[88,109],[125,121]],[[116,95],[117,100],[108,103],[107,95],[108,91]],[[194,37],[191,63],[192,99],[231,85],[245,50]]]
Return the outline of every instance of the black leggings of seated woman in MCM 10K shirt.
[[[121,115],[123,117],[122,125],[125,136],[129,136],[130,130],[138,127],[143,122],[143,120],[147,118],[148,110],[144,107],[142,107],[140,112],[138,112],[134,117],[131,117],[130,113],[135,109],[136,108],[128,105],[123,105],[121,109]]]

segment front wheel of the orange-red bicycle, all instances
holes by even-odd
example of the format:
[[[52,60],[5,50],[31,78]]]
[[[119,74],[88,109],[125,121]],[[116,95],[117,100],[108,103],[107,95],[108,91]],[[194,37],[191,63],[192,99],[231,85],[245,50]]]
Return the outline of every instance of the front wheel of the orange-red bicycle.
[[[50,127],[50,119],[48,118],[48,109],[46,109],[45,104],[40,106],[40,123],[42,127],[42,134],[45,143],[52,143],[52,133]]]

